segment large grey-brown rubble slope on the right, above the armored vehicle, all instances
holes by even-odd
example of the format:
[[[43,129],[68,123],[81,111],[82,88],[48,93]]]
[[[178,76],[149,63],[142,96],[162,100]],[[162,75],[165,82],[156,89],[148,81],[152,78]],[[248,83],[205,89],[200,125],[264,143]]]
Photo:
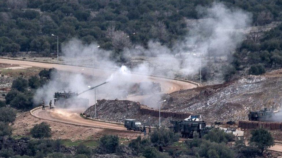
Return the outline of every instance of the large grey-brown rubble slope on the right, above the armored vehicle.
[[[281,70],[280,70],[281,71]],[[276,75],[274,77],[274,74]],[[247,76],[220,85],[181,90],[170,94],[166,110],[201,114],[208,122],[248,119],[249,111],[281,107],[282,75]]]

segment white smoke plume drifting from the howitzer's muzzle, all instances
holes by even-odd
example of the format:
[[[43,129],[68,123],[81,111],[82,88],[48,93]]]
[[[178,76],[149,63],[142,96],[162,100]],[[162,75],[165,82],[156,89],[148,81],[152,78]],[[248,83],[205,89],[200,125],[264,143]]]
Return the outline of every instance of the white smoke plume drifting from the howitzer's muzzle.
[[[37,90],[35,102],[38,102],[36,98],[51,100],[54,92],[61,89],[81,92],[86,90],[88,85],[94,86],[104,81],[109,83],[97,89],[99,93],[97,99],[120,98],[120,93],[124,90],[130,94],[130,87],[134,85],[135,81],[131,78],[131,73],[168,77],[174,77],[177,72],[185,75],[196,74],[200,66],[199,56],[202,57],[202,66],[204,66],[209,57],[226,56],[232,53],[244,39],[242,30],[251,23],[250,14],[241,9],[228,9],[221,3],[214,3],[208,8],[198,7],[197,12],[201,19],[187,20],[189,32],[185,40],[175,42],[172,48],[159,42],[149,41],[148,49],[136,46],[134,49],[124,50],[123,54],[128,59],[134,56],[145,56],[148,59],[130,70],[112,61],[110,56],[113,52],[100,49],[97,43],[84,45],[80,40],[72,39],[62,46],[66,63],[115,69],[116,73],[108,78],[95,78],[93,81],[85,79],[85,76],[80,74],[66,73],[60,75],[60,78],[66,82],[65,85],[56,80],[58,74],[53,74],[51,81]],[[149,81],[149,77],[141,79],[141,82]],[[148,89],[146,85],[143,87]],[[81,97],[90,99],[91,105],[94,103],[93,93],[92,90]],[[157,94],[156,97],[160,98],[161,94]],[[157,107],[157,104],[150,103],[148,100],[146,104]]]

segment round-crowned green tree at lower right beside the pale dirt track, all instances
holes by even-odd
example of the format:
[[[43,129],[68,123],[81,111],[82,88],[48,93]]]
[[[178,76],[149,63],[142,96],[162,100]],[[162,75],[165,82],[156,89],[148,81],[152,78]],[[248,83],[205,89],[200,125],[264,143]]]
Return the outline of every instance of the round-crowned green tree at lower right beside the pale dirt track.
[[[268,130],[259,128],[259,129],[253,130],[251,134],[252,136],[251,136],[250,142],[255,143],[255,146],[257,146],[257,148],[261,150],[261,153],[264,152],[264,149],[267,149],[270,146],[274,145],[274,139],[271,136],[271,134],[268,132]]]

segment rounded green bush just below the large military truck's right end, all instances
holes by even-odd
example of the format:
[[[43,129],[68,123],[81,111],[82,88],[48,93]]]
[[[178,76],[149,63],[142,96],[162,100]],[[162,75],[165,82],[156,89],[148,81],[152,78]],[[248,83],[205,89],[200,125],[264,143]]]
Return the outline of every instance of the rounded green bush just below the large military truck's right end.
[[[230,133],[225,133],[224,130],[212,129],[210,132],[204,135],[205,140],[216,143],[227,143],[233,140],[234,136]]]

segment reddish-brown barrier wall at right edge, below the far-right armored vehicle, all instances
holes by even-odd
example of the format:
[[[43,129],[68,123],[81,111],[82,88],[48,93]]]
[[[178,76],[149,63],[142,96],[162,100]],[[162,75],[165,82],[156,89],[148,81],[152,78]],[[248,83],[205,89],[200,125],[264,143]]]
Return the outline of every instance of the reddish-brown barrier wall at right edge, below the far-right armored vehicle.
[[[243,129],[264,128],[268,130],[281,130],[281,122],[239,121],[238,127]]]

